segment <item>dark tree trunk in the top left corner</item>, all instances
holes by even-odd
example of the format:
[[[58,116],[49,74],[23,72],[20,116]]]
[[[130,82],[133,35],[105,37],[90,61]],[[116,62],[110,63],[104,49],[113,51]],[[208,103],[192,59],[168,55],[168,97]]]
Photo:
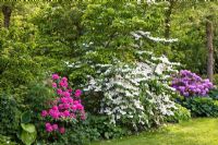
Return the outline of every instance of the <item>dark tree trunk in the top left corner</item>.
[[[12,9],[9,5],[2,5],[2,13],[3,13],[3,26],[9,27]]]

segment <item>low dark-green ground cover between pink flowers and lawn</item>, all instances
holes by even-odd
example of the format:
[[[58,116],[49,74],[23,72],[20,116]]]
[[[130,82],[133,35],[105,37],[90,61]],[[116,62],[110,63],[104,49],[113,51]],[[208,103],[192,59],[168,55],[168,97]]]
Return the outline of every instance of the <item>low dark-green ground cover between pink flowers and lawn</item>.
[[[110,124],[108,117],[88,114],[86,120],[72,126],[71,130],[65,131],[59,140],[51,144],[82,145],[100,138],[117,138],[126,134],[130,134],[126,128]]]

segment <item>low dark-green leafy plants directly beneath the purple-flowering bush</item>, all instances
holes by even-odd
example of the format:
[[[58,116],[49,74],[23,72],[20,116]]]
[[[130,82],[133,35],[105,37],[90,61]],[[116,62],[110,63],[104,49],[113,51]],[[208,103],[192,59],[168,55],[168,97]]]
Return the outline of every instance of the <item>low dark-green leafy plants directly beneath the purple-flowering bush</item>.
[[[185,98],[182,106],[191,110],[193,117],[218,117],[218,104],[209,97]]]

